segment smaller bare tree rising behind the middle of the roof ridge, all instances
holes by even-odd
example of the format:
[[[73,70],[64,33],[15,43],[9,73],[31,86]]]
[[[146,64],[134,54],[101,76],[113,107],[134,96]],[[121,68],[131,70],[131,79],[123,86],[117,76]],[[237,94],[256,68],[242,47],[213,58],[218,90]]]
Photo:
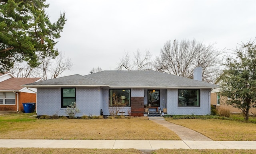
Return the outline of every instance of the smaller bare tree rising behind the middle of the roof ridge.
[[[129,53],[125,52],[116,70],[152,70],[150,51],[146,50],[145,55],[142,55],[137,49],[137,52],[133,53],[133,55],[134,59],[132,60]]]

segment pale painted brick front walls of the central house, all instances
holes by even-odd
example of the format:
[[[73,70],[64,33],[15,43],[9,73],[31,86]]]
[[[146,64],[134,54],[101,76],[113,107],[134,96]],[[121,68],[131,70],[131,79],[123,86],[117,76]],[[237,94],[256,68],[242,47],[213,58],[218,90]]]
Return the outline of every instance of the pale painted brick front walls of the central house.
[[[65,114],[65,108],[61,108],[61,88],[38,88],[37,93],[37,114],[58,115]],[[168,114],[172,115],[207,115],[210,89],[200,90],[200,107],[178,107],[178,89],[168,89],[165,99],[165,90],[160,90],[160,108],[163,109],[167,101]],[[144,97],[144,104],[147,104],[147,89],[132,89],[132,97]],[[76,103],[81,110],[76,116],[100,115],[100,109],[104,115],[109,115],[108,89],[101,88],[76,88]],[[130,107],[124,107],[121,111],[128,115]]]

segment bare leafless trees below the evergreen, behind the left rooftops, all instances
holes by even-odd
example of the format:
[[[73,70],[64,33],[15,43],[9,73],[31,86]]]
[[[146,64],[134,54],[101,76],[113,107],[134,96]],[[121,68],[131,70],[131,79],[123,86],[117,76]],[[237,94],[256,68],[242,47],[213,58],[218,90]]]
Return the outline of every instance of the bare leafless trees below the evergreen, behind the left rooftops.
[[[14,68],[10,70],[12,74],[17,77],[41,77],[43,80],[50,78],[57,78],[65,70],[71,70],[73,63],[70,58],[65,58],[62,53],[58,57],[52,58],[42,58],[40,65],[36,68],[32,68],[27,62],[16,63]]]

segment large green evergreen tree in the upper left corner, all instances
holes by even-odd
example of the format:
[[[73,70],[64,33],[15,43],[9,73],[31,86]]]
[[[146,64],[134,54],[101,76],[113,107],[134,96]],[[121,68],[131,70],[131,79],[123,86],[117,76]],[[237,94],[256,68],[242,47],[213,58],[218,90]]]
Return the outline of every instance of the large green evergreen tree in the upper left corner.
[[[66,22],[65,13],[51,23],[46,0],[0,0],[0,72],[25,60],[36,67],[40,59],[58,55],[54,48]]]

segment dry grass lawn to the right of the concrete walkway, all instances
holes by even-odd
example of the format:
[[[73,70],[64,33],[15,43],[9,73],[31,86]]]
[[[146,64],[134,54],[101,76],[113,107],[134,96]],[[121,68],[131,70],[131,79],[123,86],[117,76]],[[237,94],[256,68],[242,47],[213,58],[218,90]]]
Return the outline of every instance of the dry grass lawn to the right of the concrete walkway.
[[[256,124],[218,119],[178,119],[167,121],[193,129],[212,140],[256,141]]]

